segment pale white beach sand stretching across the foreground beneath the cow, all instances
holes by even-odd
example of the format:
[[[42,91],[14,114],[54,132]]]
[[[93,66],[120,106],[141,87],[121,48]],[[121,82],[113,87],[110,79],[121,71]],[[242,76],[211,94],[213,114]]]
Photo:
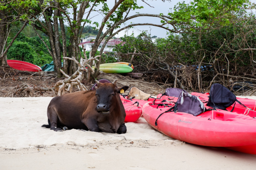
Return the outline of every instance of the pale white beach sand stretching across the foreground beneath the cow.
[[[143,117],[120,135],[41,128],[51,99],[0,97],[0,169],[255,169],[256,155],[183,143]]]

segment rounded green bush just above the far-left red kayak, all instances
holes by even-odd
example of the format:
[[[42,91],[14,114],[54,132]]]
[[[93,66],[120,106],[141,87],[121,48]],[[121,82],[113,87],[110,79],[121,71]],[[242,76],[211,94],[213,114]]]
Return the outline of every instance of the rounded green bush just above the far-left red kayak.
[[[15,41],[7,52],[7,59],[33,63],[35,50],[27,42]]]

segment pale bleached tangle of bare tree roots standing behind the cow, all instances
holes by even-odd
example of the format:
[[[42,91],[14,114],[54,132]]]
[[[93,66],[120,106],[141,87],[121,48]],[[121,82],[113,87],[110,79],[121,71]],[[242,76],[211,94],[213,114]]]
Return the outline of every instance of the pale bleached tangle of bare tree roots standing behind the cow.
[[[94,61],[95,60],[99,61],[97,58],[100,57],[100,55],[97,55],[94,58],[90,57],[89,59],[87,59],[86,54],[84,53],[84,57],[86,59],[81,58],[80,63],[74,57],[72,57],[72,58],[63,57],[64,59],[69,59],[69,60],[75,61],[76,64],[78,65],[78,69],[71,76],[65,74],[64,71],[60,70],[60,72],[67,78],[64,80],[60,80],[55,84],[54,87],[55,87],[56,91],[58,91],[58,96],[63,95],[65,93],[65,91],[71,93],[73,87],[76,87],[82,91],[88,90],[84,86],[84,84],[81,83],[81,81],[84,78],[84,71],[88,72],[88,69],[89,69],[91,71],[91,73],[94,74],[94,70],[92,69],[90,64],[88,64],[88,62],[93,61],[93,64],[95,65]],[[95,68],[96,68],[96,65],[95,65]]]

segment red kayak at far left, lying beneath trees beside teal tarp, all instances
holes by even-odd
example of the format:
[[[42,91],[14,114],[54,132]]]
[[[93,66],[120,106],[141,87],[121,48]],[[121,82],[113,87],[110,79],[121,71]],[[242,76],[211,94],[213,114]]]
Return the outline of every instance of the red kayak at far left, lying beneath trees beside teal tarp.
[[[22,71],[33,71],[33,72],[39,72],[42,71],[41,67],[36,66],[34,64],[25,62],[25,61],[19,61],[19,60],[7,60],[7,64],[17,70]]]

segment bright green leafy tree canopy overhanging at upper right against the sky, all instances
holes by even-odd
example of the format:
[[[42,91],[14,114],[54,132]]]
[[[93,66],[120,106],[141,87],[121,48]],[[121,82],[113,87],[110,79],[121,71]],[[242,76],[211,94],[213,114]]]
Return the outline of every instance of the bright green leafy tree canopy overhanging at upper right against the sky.
[[[188,4],[183,1],[175,5],[174,11],[168,16],[178,29],[198,32],[200,27],[215,27],[216,22],[222,26],[228,25],[230,19],[239,12],[246,12],[250,5],[249,0],[194,0]],[[165,21],[162,20],[162,23]]]

